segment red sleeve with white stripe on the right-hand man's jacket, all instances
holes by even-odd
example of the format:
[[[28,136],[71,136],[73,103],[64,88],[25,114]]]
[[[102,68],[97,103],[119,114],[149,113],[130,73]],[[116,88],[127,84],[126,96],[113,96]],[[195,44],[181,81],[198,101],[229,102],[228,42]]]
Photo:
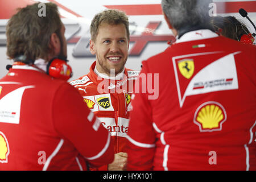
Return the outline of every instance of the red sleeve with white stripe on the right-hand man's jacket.
[[[130,123],[128,131],[128,170],[152,170],[155,153],[155,133],[152,126],[152,108],[148,100],[148,93],[141,93],[147,86],[147,65],[144,62],[142,71],[135,82],[131,105]],[[140,92],[138,93],[138,86]],[[147,87],[146,87],[147,88]]]

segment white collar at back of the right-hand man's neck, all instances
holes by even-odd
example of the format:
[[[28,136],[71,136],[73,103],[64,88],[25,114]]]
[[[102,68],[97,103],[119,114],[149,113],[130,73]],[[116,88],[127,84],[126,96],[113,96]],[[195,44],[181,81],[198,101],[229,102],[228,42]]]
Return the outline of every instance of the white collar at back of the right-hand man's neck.
[[[218,34],[208,30],[208,29],[202,29],[202,30],[196,30],[185,33],[183,36],[181,36],[180,39],[177,39],[175,43],[181,43],[181,42],[188,42],[193,40],[201,40],[201,39],[210,39],[210,38],[216,38]]]

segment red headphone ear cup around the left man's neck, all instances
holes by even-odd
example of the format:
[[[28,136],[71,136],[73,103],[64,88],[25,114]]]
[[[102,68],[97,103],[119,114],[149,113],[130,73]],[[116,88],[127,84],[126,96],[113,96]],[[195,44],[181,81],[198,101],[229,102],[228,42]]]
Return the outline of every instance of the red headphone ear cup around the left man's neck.
[[[68,81],[72,77],[72,68],[67,61],[56,58],[48,63],[47,74],[53,78]]]

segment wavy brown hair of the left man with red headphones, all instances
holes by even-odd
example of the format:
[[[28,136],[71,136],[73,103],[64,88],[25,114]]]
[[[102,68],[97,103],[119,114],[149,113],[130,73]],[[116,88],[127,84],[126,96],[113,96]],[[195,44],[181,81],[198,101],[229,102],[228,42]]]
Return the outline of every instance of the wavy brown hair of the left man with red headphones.
[[[14,59],[18,55],[27,60],[46,59],[52,51],[48,48],[53,32],[61,39],[61,20],[57,6],[45,3],[46,16],[39,16],[39,3],[19,9],[6,27],[7,56]]]

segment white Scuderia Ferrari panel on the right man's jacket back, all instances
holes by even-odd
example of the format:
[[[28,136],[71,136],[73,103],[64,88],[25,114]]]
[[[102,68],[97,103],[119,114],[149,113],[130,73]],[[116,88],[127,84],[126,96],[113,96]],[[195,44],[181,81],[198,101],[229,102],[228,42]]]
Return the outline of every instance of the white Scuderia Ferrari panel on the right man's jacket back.
[[[233,90],[238,89],[237,80],[237,69],[234,55],[240,52],[230,53],[220,59],[214,61],[213,63],[207,65],[207,67],[201,69],[189,82],[187,89],[185,90],[184,96],[181,96],[180,88],[178,86],[179,92],[179,102],[180,107],[183,106],[185,97],[193,96],[196,94],[203,94],[209,92],[216,92],[221,90]],[[205,53],[207,54],[207,53]],[[196,56],[196,55],[194,55]],[[173,63],[175,65],[175,57],[173,57]],[[179,82],[177,75],[176,82]],[[217,84],[214,84],[216,83]],[[197,89],[200,86],[200,89]]]

